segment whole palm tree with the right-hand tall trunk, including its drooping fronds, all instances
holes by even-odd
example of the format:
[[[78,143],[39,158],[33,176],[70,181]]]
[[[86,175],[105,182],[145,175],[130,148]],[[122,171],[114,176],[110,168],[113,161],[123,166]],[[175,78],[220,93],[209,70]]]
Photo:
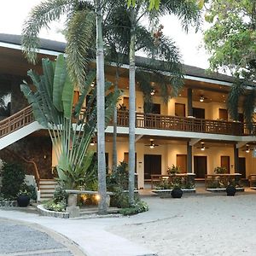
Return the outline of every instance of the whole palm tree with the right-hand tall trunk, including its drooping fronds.
[[[129,195],[130,195],[130,203],[133,204],[133,191],[134,191],[134,169],[135,169],[135,70],[137,71],[137,81],[139,81],[139,85],[144,93],[145,103],[152,102],[152,96],[150,96],[150,91],[152,89],[150,84],[150,79],[147,71],[150,73],[154,73],[154,78],[157,76],[158,81],[160,81],[160,87],[162,91],[162,96],[165,102],[168,101],[170,96],[176,95],[178,89],[183,85],[183,70],[180,61],[180,55],[178,53],[178,49],[175,46],[174,42],[170,38],[166,38],[161,35],[162,27],[154,33],[154,37],[152,37],[151,33],[140,24],[140,19],[143,15],[149,15],[152,13],[148,12],[148,1],[144,1],[144,3],[139,3],[139,5],[130,6],[127,9],[127,6],[123,1],[109,1],[109,13],[110,15],[106,15],[107,18],[104,21],[106,38],[108,39],[108,48],[110,48],[110,52],[112,53],[111,57],[115,57],[119,59],[119,55],[129,55],[130,52],[130,102],[129,102]],[[175,1],[176,2],[176,1]],[[179,1],[180,7],[178,4],[173,4],[175,6],[176,12],[175,14],[181,13],[184,15],[183,25],[187,28],[189,22],[197,21],[198,9],[192,9],[191,6],[187,6],[184,8],[183,5],[189,3],[183,3]],[[169,9],[161,9],[161,14],[170,13],[174,6],[170,6]],[[182,9],[184,8],[184,11]],[[188,11],[189,9],[189,11]],[[193,13],[194,15],[191,15]],[[154,13],[156,16],[156,13]],[[195,17],[196,16],[196,17]],[[113,43],[114,42],[114,43]],[[154,58],[159,58],[160,65],[153,63],[143,63],[143,67],[135,68],[135,52],[137,50],[142,50],[148,54],[149,57],[154,61]],[[164,76],[164,71],[169,71],[172,73],[171,79],[166,79]],[[145,76],[144,74],[147,73]],[[168,93],[168,88],[170,87],[170,82],[172,83],[172,95]]]

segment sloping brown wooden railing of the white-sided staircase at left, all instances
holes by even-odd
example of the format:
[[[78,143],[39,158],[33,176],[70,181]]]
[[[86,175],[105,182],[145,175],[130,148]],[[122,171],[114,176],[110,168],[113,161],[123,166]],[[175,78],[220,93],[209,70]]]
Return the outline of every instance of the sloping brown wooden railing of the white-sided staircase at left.
[[[0,121],[0,137],[4,137],[11,132],[31,124],[34,121],[32,106],[21,109],[10,117]]]

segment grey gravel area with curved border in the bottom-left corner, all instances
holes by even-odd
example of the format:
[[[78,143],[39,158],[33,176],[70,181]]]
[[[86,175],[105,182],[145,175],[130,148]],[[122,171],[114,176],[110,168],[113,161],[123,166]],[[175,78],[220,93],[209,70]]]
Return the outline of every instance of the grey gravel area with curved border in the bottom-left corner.
[[[84,255],[64,236],[45,231],[38,224],[0,218],[0,255]]]

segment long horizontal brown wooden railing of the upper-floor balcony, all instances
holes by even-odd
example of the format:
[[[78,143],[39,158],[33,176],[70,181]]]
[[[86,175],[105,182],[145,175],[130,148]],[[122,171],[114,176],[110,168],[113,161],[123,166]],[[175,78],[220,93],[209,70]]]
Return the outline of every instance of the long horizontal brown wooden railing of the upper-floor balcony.
[[[118,126],[129,126],[128,111],[118,111]],[[241,122],[195,119],[154,113],[136,113],[136,127],[145,129],[203,132],[234,136],[252,136],[256,131],[256,123],[253,123],[253,131],[248,131],[245,124]]]

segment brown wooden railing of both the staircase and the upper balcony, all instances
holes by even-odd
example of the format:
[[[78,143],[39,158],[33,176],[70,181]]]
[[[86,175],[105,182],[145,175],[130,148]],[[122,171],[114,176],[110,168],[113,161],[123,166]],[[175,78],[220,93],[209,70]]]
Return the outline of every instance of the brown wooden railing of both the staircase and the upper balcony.
[[[85,108],[81,110],[82,118]],[[32,107],[28,106],[0,121],[0,137],[16,131],[34,121]],[[129,126],[129,112],[118,111],[118,125]],[[225,134],[236,136],[248,136],[256,134],[256,123],[253,123],[252,131],[241,122],[228,122],[223,120],[195,119],[178,116],[161,115],[154,113],[136,113],[137,128],[205,132],[213,134]]]

